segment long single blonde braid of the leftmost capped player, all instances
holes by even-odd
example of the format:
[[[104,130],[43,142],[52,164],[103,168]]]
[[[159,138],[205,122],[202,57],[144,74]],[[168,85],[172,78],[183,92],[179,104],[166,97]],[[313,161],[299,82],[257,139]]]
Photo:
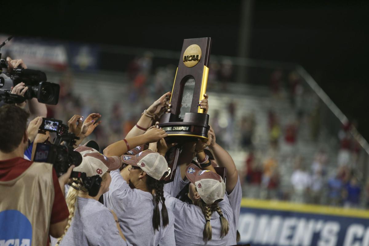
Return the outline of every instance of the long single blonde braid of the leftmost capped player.
[[[104,173],[102,176],[103,181],[105,181],[107,179],[107,175],[110,175],[109,173]],[[76,211],[76,206],[77,206],[77,197],[78,195],[87,195],[88,194],[88,190],[83,186],[82,180],[80,179],[73,179],[74,182],[69,190],[68,190],[68,194],[65,198],[66,204],[68,206],[68,210],[69,210],[69,216],[68,216],[68,222],[67,225],[65,226],[64,229],[64,233],[63,235],[58,238],[58,242],[56,243],[55,246],[58,246],[61,242],[61,240],[63,239],[63,237],[65,236],[65,234],[67,233],[70,224],[72,224],[72,218],[75,214]]]

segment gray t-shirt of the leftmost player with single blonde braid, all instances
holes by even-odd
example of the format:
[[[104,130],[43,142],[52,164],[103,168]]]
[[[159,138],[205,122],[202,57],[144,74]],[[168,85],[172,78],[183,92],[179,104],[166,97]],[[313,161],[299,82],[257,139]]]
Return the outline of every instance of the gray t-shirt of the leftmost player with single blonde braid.
[[[51,246],[57,239],[51,237]],[[77,198],[75,214],[60,246],[80,245],[127,245],[118,232],[111,211],[99,201]]]

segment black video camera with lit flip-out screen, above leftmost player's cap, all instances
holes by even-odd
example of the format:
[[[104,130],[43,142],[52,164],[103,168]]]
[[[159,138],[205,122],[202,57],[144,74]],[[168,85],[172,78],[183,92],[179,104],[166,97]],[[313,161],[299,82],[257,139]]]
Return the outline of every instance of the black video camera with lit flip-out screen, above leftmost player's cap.
[[[34,161],[47,162],[54,166],[56,175],[59,177],[68,171],[72,165],[79,166],[82,162],[80,153],[73,151],[76,139],[79,139],[75,134],[68,132],[68,126],[61,124],[62,121],[43,118],[42,125],[50,131],[46,125],[51,125],[56,132],[54,143],[37,143]]]

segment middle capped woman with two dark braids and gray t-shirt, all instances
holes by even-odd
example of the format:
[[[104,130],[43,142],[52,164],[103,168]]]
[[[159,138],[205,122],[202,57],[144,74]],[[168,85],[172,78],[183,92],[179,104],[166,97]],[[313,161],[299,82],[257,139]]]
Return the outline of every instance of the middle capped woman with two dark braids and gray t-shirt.
[[[128,164],[129,183],[119,171],[111,172],[104,200],[118,216],[120,227],[132,245],[175,245],[174,215],[166,209],[163,179],[169,173],[165,158],[152,150],[121,156]]]

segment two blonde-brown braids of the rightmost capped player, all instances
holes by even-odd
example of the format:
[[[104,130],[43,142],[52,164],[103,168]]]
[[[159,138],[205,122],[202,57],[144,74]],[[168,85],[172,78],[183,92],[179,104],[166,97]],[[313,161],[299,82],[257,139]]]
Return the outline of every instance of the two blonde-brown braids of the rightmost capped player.
[[[220,216],[220,225],[221,225],[221,231],[220,231],[220,237],[223,238],[225,235],[228,234],[229,231],[229,224],[226,218],[223,216],[223,212],[218,206],[218,204],[212,204],[207,205],[201,198],[198,203],[199,207],[201,208],[201,211],[204,214],[205,217],[205,225],[204,225],[204,231],[203,231],[203,240],[211,240],[211,224],[210,224],[210,218],[211,214],[213,214],[214,211],[217,211],[217,213]]]

